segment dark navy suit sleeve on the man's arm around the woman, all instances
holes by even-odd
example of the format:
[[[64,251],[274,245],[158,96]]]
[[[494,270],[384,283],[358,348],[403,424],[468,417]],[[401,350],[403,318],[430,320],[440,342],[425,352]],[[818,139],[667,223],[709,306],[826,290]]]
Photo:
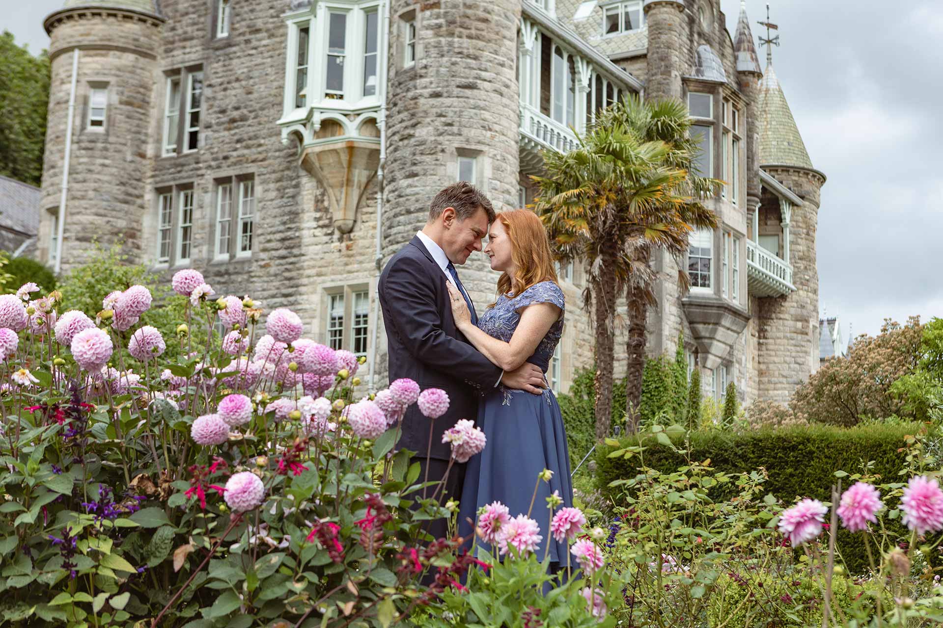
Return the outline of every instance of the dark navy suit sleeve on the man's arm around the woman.
[[[502,377],[501,369],[473,346],[442,330],[435,295],[422,282],[427,275],[426,269],[409,257],[396,260],[389,268],[383,291],[401,342],[416,360],[477,387],[492,388]]]

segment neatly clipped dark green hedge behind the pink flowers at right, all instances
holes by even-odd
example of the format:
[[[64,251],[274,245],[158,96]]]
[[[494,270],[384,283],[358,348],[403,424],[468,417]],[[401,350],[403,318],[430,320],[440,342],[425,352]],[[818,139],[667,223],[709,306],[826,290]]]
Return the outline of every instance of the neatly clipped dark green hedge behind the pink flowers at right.
[[[874,462],[869,473],[880,475],[881,482],[903,481],[904,478],[898,475],[906,466],[903,439],[919,428],[916,424],[870,424],[852,428],[813,425],[746,432],[694,432],[690,437],[691,459],[710,459],[712,467],[726,473],[750,472],[764,467],[769,472],[769,479],[764,484],[767,492],[786,504],[796,497],[828,502],[836,479],[835,471],[858,473],[862,464],[869,460]],[[676,436],[675,444],[684,447],[683,439],[683,436]],[[637,437],[624,437],[620,447],[637,442]],[[645,444],[642,456],[645,465],[652,469],[672,473],[686,464],[682,455],[651,438]],[[596,448],[596,486],[618,504],[618,491],[622,489],[610,489],[608,484],[637,475],[638,458],[606,458],[614,449],[605,444]],[[736,486],[728,484],[721,485],[712,498],[721,501],[735,495]],[[897,522],[887,523],[888,529],[899,527]],[[904,531],[898,531],[905,538]],[[868,565],[861,535],[839,531],[838,547],[852,572],[861,572]]]

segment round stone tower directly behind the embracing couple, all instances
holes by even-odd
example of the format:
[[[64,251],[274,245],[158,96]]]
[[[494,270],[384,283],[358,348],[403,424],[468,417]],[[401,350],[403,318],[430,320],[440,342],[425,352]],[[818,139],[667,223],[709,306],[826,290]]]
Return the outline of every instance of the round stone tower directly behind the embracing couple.
[[[438,190],[459,179],[459,161],[496,211],[515,207],[518,197],[521,0],[392,0],[390,17],[406,14],[418,37],[414,63],[389,64],[386,259],[422,228]],[[398,48],[392,40],[390,58]],[[459,272],[479,310],[493,300],[497,277],[483,255]]]

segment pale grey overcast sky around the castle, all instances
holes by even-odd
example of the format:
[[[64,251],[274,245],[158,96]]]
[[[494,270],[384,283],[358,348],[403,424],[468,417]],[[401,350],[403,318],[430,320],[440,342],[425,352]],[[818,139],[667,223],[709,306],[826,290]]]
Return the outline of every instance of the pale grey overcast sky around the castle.
[[[10,2],[10,0],[8,0]],[[38,53],[42,19],[62,0],[17,2],[0,28]],[[287,4],[287,1],[286,1]],[[766,0],[747,0],[755,37]],[[819,312],[843,335],[943,315],[943,2],[770,0],[781,45],[773,65],[813,165],[819,210]],[[739,0],[721,0],[736,29]],[[12,13],[12,14],[10,14]],[[765,50],[758,49],[765,64]]]

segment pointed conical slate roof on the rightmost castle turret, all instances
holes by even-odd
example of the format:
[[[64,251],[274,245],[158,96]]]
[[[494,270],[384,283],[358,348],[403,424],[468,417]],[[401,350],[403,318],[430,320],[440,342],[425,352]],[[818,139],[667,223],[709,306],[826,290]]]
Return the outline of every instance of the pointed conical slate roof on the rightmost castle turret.
[[[767,66],[760,81],[756,118],[756,128],[760,134],[761,167],[796,166],[814,169],[772,64]]]

